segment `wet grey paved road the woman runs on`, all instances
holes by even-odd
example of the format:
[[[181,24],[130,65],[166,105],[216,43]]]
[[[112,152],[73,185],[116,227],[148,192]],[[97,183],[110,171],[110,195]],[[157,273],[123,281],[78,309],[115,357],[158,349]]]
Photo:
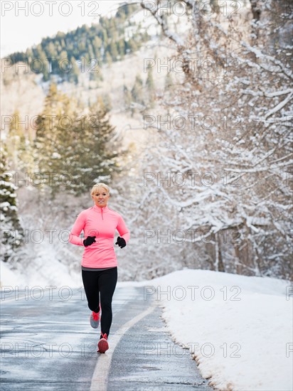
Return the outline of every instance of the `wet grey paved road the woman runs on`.
[[[107,353],[89,324],[84,291],[15,292],[1,300],[3,391],[212,390],[188,350],[166,332],[143,288],[117,287]],[[17,296],[17,295],[16,295]]]

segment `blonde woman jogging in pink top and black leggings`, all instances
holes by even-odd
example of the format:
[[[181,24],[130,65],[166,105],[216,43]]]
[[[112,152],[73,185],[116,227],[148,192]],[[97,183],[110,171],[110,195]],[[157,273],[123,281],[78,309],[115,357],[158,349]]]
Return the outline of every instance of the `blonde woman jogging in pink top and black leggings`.
[[[95,205],[82,210],[78,215],[70,232],[69,242],[85,247],[81,271],[87,304],[92,311],[90,325],[97,328],[101,321],[101,336],[97,344],[97,352],[105,353],[109,348],[107,339],[112,323],[112,296],[117,283],[114,235],[117,230],[120,236],[115,245],[123,248],[129,240],[129,231],[122,216],[107,207],[110,188],[105,183],[97,183],[93,186],[91,195]],[[79,237],[82,230],[85,240]]]

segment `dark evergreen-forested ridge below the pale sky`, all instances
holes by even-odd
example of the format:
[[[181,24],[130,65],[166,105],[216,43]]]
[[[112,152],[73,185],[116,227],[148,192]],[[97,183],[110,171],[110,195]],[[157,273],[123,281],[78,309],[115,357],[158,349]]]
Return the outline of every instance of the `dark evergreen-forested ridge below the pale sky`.
[[[43,81],[58,76],[59,81],[78,83],[82,69],[84,72],[89,67],[93,70],[92,80],[99,80],[96,70],[103,63],[110,64],[134,53],[149,39],[146,30],[132,21],[138,9],[135,4],[126,4],[115,16],[101,16],[99,23],[83,25],[68,33],[58,31],[26,52],[11,53],[7,60],[11,65],[26,63],[33,73],[42,75]]]

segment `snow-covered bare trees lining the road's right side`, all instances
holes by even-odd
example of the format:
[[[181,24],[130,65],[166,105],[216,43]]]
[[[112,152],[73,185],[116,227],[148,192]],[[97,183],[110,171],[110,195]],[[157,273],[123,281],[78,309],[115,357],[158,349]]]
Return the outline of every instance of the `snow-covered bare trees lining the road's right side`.
[[[171,121],[181,120],[153,125],[159,141],[144,170],[185,176],[184,186],[172,179],[150,185],[169,217],[157,227],[194,233],[168,254],[188,267],[289,278],[292,9],[287,1],[241,1],[233,19],[235,9],[228,17],[217,1],[186,0],[190,28],[179,35],[161,15],[165,3],[150,13],[176,45],[184,77],[161,103]],[[144,208],[153,206],[144,199]]]

